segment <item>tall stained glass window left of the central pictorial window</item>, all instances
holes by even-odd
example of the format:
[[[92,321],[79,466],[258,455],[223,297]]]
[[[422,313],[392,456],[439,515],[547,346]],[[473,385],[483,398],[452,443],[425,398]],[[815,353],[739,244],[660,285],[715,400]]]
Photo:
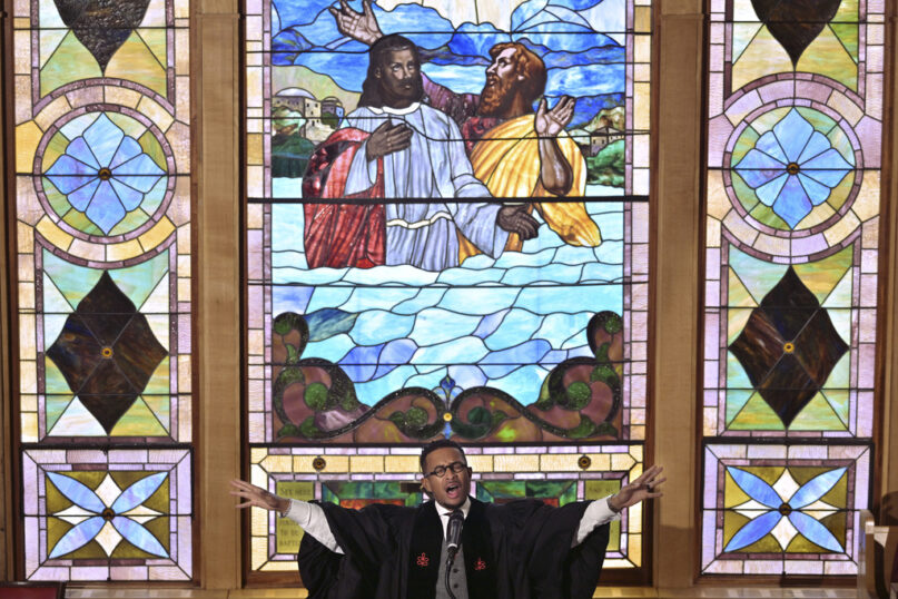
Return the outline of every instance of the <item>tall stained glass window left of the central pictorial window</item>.
[[[189,4],[13,11],[24,577],[190,580]]]

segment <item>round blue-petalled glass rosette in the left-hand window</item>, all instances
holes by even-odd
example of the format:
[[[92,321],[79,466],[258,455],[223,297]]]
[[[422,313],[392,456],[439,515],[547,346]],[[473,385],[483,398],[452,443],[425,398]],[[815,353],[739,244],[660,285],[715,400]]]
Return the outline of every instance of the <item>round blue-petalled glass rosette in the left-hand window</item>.
[[[45,208],[89,238],[139,235],[165,210],[170,151],[146,124],[118,111],[87,112],[49,132],[36,170]]]

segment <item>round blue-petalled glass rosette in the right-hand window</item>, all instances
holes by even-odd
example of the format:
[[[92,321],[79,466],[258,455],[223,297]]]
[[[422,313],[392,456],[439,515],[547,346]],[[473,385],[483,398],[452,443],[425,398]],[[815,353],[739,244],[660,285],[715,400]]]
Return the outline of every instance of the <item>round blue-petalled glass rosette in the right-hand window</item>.
[[[732,145],[731,196],[754,222],[781,232],[820,225],[855,194],[855,148],[831,117],[783,107],[752,119]]]

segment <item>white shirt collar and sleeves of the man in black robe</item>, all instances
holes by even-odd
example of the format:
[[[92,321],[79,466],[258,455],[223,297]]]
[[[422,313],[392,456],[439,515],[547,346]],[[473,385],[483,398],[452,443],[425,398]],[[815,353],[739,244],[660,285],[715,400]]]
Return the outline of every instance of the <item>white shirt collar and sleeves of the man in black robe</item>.
[[[601,527],[602,524],[611,522],[612,520],[620,519],[621,514],[615,513],[609,507],[609,499],[610,495],[604,499],[593,501],[586,507],[586,510],[583,512],[583,517],[580,519],[580,527],[576,529],[576,536],[571,541],[571,547],[576,547],[582,543],[595,527]],[[283,514],[284,518],[299,524],[306,534],[312,534],[315,540],[330,551],[336,553],[344,552],[343,548],[339,547],[339,543],[337,543],[336,538],[334,538],[334,533],[330,532],[330,527],[327,524],[327,518],[325,517],[324,510],[320,505],[297,499],[290,499],[288,501],[290,502],[290,507],[287,508],[287,512]],[[452,510],[443,508],[438,503],[436,504],[436,510],[440,514],[440,521],[443,524],[443,538],[445,539],[446,528],[448,527],[448,517],[452,513]],[[461,510],[462,513],[464,513],[464,517],[467,518],[467,512],[471,510],[470,498],[465,499]]]

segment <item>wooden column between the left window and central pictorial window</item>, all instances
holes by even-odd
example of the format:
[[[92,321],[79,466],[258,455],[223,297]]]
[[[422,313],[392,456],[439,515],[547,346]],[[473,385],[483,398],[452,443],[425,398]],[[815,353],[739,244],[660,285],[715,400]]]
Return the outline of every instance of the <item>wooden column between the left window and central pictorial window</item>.
[[[195,19],[194,147],[198,411],[197,579],[241,586],[240,518],[228,481],[240,472],[240,21],[234,0],[204,0]]]

